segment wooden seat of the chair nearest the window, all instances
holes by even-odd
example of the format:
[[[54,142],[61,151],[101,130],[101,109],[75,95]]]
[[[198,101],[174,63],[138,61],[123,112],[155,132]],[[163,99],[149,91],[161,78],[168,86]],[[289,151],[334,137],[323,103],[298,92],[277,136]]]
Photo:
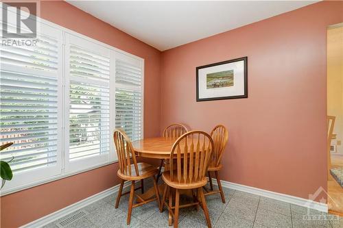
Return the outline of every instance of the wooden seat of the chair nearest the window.
[[[134,164],[131,164],[131,175],[126,175],[124,173],[121,173],[121,170],[119,169],[117,172],[118,177],[120,177],[121,179],[125,179],[126,181],[135,181],[139,179],[145,179],[147,177],[152,177],[153,175],[158,174],[158,168],[150,164],[139,162],[137,163],[137,166],[138,166],[139,176],[137,176],[137,173],[134,170]]]

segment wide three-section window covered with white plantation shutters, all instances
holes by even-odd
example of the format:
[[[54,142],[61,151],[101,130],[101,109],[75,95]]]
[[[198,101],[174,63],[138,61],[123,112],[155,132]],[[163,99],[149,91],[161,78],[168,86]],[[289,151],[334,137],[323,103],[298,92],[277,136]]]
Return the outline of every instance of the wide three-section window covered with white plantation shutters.
[[[1,47],[2,194],[117,160],[112,134],[143,138],[141,58],[38,20],[36,46]]]

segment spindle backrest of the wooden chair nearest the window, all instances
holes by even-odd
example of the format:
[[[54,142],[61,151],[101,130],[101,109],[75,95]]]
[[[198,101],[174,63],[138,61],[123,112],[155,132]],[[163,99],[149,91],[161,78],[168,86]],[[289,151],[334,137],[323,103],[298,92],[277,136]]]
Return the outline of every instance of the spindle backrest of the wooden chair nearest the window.
[[[121,173],[123,175],[131,176],[133,170],[131,170],[130,157],[132,156],[134,171],[136,172],[136,175],[139,176],[136,153],[134,153],[130,138],[122,129],[115,129],[115,132],[113,133],[113,141],[115,142],[115,149],[117,151]]]

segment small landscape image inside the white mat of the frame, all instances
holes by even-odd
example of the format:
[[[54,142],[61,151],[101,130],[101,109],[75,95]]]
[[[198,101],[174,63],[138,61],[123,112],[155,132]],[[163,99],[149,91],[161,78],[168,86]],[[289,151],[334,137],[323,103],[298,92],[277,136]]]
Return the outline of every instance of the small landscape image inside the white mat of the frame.
[[[233,86],[233,70],[206,74],[206,88],[224,88]]]

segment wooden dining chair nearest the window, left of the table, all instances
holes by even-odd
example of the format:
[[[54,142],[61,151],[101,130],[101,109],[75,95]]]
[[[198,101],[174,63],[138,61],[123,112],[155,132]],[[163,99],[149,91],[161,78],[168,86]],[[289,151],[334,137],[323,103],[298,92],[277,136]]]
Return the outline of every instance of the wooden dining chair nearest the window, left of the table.
[[[121,191],[123,190],[124,181],[131,181],[127,220],[127,224],[129,225],[131,220],[132,207],[139,207],[141,205],[144,205],[145,203],[150,203],[155,200],[158,201],[158,205],[161,205],[160,195],[158,194],[158,188],[155,177],[155,175],[158,173],[158,169],[154,166],[151,166],[150,164],[146,164],[143,162],[137,163],[136,153],[134,152],[134,149],[130,142],[130,138],[128,138],[128,136],[125,134],[123,130],[115,129],[115,132],[113,134],[113,140],[115,142],[115,148],[117,150],[119,160],[119,170],[117,172],[117,175],[119,178],[121,178],[121,184],[119,187],[117,202],[115,203],[115,208],[118,208],[121,196],[129,193],[126,192],[121,194]],[[137,195],[137,197],[141,199],[142,202],[133,204],[134,190],[139,189],[134,189],[134,182],[139,180],[141,181],[140,188],[143,193],[143,179],[148,177],[152,177],[154,179],[154,189],[156,198],[144,201]]]

